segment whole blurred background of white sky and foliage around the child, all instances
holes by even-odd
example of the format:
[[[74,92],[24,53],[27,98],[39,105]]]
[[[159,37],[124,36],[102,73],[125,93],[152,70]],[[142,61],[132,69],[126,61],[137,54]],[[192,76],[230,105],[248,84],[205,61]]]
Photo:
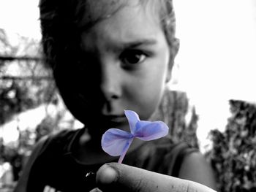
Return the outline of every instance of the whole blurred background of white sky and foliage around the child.
[[[0,1],[0,191],[12,191],[39,138],[82,127],[42,65],[37,4]],[[173,130],[187,131],[206,155],[219,191],[254,191],[256,0],[174,0],[174,7],[181,47],[170,88],[183,126]]]

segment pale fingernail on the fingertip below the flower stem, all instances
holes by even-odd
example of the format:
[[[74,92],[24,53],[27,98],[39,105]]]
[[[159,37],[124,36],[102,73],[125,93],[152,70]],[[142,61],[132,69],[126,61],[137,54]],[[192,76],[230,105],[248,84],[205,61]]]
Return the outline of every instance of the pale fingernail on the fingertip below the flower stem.
[[[97,172],[96,181],[100,184],[110,184],[117,180],[118,173],[108,164],[103,165]]]

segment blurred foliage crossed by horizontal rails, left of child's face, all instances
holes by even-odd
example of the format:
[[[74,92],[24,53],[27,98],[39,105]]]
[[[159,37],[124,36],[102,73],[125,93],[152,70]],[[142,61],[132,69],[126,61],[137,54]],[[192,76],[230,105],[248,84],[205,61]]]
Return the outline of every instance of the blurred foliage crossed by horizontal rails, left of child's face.
[[[0,126],[13,115],[50,102],[55,87],[42,65],[39,41],[0,29]],[[14,45],[13,45],[14,44]]]

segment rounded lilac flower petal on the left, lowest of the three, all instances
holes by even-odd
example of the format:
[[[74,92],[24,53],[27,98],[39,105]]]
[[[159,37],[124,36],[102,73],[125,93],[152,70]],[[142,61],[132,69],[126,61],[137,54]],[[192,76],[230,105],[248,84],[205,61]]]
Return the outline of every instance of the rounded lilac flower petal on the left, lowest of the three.
[[[121,155],[132,137],[127,131],[110,128],[102,135],[102,149],[112,156]]]

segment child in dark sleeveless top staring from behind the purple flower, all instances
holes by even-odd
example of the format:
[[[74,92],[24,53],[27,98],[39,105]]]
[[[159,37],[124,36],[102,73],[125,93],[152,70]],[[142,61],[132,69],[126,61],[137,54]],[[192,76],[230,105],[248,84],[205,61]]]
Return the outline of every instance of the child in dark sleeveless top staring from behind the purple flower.
[[[113,127],[129,131],[124,110],[154,120],[178,51],[172,1],[41,0],[39,9],[47,64],[64,103],[85,128],[42,139],[16,191],[91,191],[115,175],[99,172],[97,183],[88,177],[117,160],[102,150],[102,134]],[[167,137],[135,140],[124,164],[214,188],[203,155]],[[150,175],[140,183],[157,178]]]

